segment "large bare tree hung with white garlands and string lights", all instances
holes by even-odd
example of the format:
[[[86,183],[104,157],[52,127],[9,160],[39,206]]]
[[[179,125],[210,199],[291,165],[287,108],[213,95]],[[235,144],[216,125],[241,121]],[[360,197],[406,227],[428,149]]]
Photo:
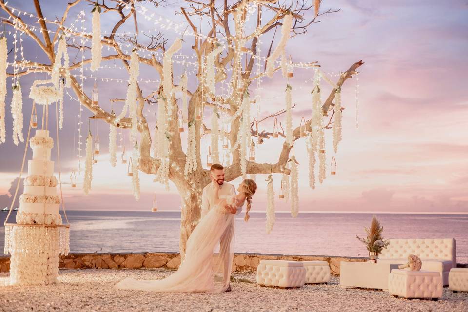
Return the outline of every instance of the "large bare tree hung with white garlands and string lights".
[[[60,33],[65,33],[69,38],[72,37],[85,37],[91,39],[89,33],[81,33],[78,30],[66,28],[66,21],[70,10],[77,6],[78,3],[87,4],[91,9],[93,6],[98,5],[102,11],[102,18],[116,19],[117,21],[112,29],[107,31],[107,36],[101,38],[101,42],[104,46],[110,47],[111,53],[103,56],[103,61],[119,59],[127,70],[130,69],[129,61],[131,55],[126,54],[119,43],[126,42],[131,43],[136,48],[144,51],[165,52],[166,45],[172,41],[172,39],[165,38],[162,33],[144,35],[124,35],[116,36],[119,29],[127,21],[133,21],[135,23],[135,30],[137,32],[137,19],[138,17],[138,6],[142,3],[152,4],[153,10],[159,10],[161,5],[164,5],[164,1],[158,0],[108,0],[94,2],[90,0],[75,0],[68,3],[63,15],[56,21],[54,19],[46,19],[44,12],[41,8],[39,0],[33,0],[36,15],[39,17],[37,23],[39,23],[39,30],[33,31],[23,17],[18,15],[18,12],[12,11],[11,7],[7,6],[3,0],[0,2],[1,9],[9,16],[9,19],[2,19],[3,23],[8,24],[12,27],[16,27],[20,31],[23,31],[31,39],[33,39],[39,48],[45,53],[49,59],[49,63],[34,64],[24,71],[21,71],[19,75],[27,75],[32,72],[50,72],[52,70],[51,64],[54,64],[55,52],[54,45],[59,40]],[[107,3],[106,3],[107,2]],[[232,4],[229,4],[233,2]],[[309,2],[313,2],[309,4]],[[292,14],[293,24],[291,29],[291,36],[302,35],[307,32],[307,28],[312,26],[314,22],[318,22],[317,17],[323,16],[327,13],[334,12],[333,10],[322,10],[320,13],[318,8],[320,0],[307,1],[307,0],[291,0],[291,1],[279,1],[279,0],[240,0],[240,1],[228,1],[228,0],[185,0],[183,6],[177,8],[175,14],[180,14],[185,18],[187,27],[191,28],[195,36],[184,37],[185,41],[193,40],[192,49],[196,55],[196,71],[197,77],[203,75],[203,62],[207,58],[208,54],[212,52],[216,47],[218,39],[222,39],[226,44],[226,48],[215,58],[215,66],[217,68],[215,81],[231,81],[232,82],[232,94],[224,96],[213,95],[211,100],[207,100],[206,95],[210,94],[207,86],[200,82],[192,88],[193,91],[186,90],[189,96],[188,103],[188,120],[195,120],[195,108],[198,107],[216,107],[219,111],[224,114],[234,115],[239,109],[239,105],[242,102],[244,91],[248,89],[249,85],[257,78],[263,77],[264,74],[258,74],[254,72],[254,63],[258,55],[258,37],[265,35],[266,33],[275,31],[277,28],[282,26],[282,21],[286,14]],[[247,5],[249,4],[249,5]],[[243,25],[252,12],[248,12],[248,8],[252,7],[252,4],[256,5],[256,12],[250,17],[251,23],[256,23],[255,30],[252,33],[245,33],[244,29],[240,28]],[[240,22],[239,22],[240,21]],[[201,26],[205,25],[205,33],[201,33]],[[208,27],[206,26],[208,25]],[[146,40],[142,40],[141,37]],[[271,37],[270,37],[271,38]],[[274,36],[273,36],[274,38]],[[78,41],[78,40],[77,40]],[[144,41],[144,43],[143,43]],[[242,46],[239,46],[242,44]],[[270,45],[268,55],[272,51],[273,41]],[[69,49],[78,48],[85,49],[86,47],[78,45],[76,42],[69,41]],[[242,60],[242,62],[240,61]],[[158,61],[153,55],[151,58],[145,58],[139,56],[139,61],[145,63],[154,68],[156,73],[161,79],[161,86],[163,82],[163,63]],[[259,60],[258,60],[259,61]],[[83,61],[73,63],[70,66],[70,70],[79,68],[84,64],[91,63],[91,59],[84,59]],[[33,62],[31,62],[33,64]],[[27,65],[22,62],[22,65]],[[351,67],[343,72],[339,80],[335,82],[336,86],[340,88],[343,83],[355,75],[356,69],[362,65],[361,61],[358,61],[351,65]],[[27,66],[26,66],[27,68]],[[226,70],[220,70],[226,69]],[[275,68],[274,70],[278,70]],[[228,73],[228,74],[226,74]],[[63,74],[63,72],[62,72]],[[13,75],[12,73],[9,74]],[[94,116],[92,118],[101,119],[103,122],[114,124],[115,115],[104,110],[100,106],[94,106],[91,98],[86,94],[85,90],[82,90],[81,85],[78,83],[77,77],[73,74],[71,76],[72,83],[71,88],[73,89],[76,96],[79,98],[81,104],[90,110]],[[170,81],[173,87],[173,77]],[[193,84],[193,83],[192,83]],[[157,93],[161,92],[161,88],[153,90],[149,94],[143,94],[139,85],[137,85],[137,129],[140,133],[140,143],[138,145],[140,152],[139,170],[147,174],[156,174],[161,164],[160,160],[151,155],[152,136],[149,129],[146,118],[143,115],[143,109],[145,105],[149,105],[153,102],[152,99],[157,98]],[[239,92],[239,90],[242,90]],[[337,89],[333,89],[330,95],[325,100],[322,106],[323,115],[327,116],[329,111],[333,110],[333,100]],[[167,102],[172,105],[180,105],[175,96],[170,98]],[[166,103],[167,103],[166,102]],[[198,220],[200,219],[200,198],[201,192],[205,185],[210,182],[209,171],[203,169],[202,159],[200,153],[200,139],[204,133],[208,132],[206,125],[203,123],[203,119],[200,121],[195,120],[195,140],[196,140],[196,162],[197,169],[189,175],[184,175],[184,168],[187,155],[182,149],[182,141],[180,133],[177,131],[177,109],[172,110],[172,116],[168,121],[168,133],[170,133],[169,143],[169,180],[172,181],[179,192],[183,195],[182,197],[182,212],[181,212],[181,225],[180,225],[180,252],[182,256],[185,253],[185,245],[189,235],[195,228]],[[277,116],[282,112],[272,113],[268,117]],[[231,146],[237,141],[239,135],[238,131],[240,128],[240,120],[242,116],[236,116],[232,120],[231,130],[224,132],[221,135],[227,136],[227,139],[231,142]],[[252,120],[254,124],[254,120]],[[306,121],[306,126],[310,130],[311,120]],[[329,123],[330,125],[330,123]],[[123,118],[120,120],[119,126],[122,128],[131,128],[132,121],[130,118]],[[192,125],[193,126],[193,125]],[[252,136],[259,137],[260,140],[267,139],[273,136],[273,133],[262,131],[257,133],[257,129],[252,128]],[[284,137],[284,133],[280,134]],[[300,138],[300,127],[293,129],[293,142]],[[154,139],[154,138],[153,138]],[[248,174],[270,174],[270,173],[285,173],[289,174],[290,170],[285,168],[287,161],[290,159],[290,151],[292,145],[283,144],[282,149],[279,151],[277,161],[274,163],[259,163],[255,161],[247,160],[247,173]],[[242,176],[241,172],[241,159],[238,150],[234,150],[232,153],[232,164],[227,166],[226,180],[230,181],[239,176]],[[179,168],[179,169],[177,169]]]

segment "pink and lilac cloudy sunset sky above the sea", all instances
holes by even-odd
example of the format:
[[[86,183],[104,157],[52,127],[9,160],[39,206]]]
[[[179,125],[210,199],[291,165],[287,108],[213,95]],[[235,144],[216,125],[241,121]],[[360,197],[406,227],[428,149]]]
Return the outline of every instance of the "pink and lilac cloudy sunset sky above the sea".
[[[23,9],[33,11],[32,4],[22,5]],[[343,87],[343,106],[346,107],[343,141],[336,155],[332,152],[331,130],[326,131],[327,164],[331,156],[336,157],[336,176],[330,176],[328,168],[324,183],[320,185],[317,181],[316,189],[311,190],[305,143],[296,143],[295,154],[300,163],[300,211],[467,213],[466,1],[342,0],[324,1],[322,8],[328,9],[330,5],[341,8],[341,11],[323,16],[306,35],[291,39],[287,50],[294,61],[319,61],[327,73],[344,71],[360,59],[365,62],[359,69],[359,127],[355,126],[356,81],[352,79]],[[84,9],[88,10],[87,7]],[[171,12],[173,9],[165,10]],[[51,13],[51,19],[53,16]],[[109,25],[103,23],[103,27],[110,28]],[[192,44],[192,39],[189,41]],[[28,44],[33,53],[36,47]],[[189,43],[185,45],[184,52],[188,53]],[[106,73],[98,76],[111,77]],[[122,78],[125,76],[123,74]],[[305,81],[312,76],[311,70],[296,70],[290,82],[293,101],[297,104],[293,116],[295,125],[303,115],[310,116],[312,88],[311,82]],[[32,80],[34,77],[25,78],[25,85],[30,85]],[[280,74],[263,81],[261,116],[284,106],[285,85]],[[105,89],[108,98],[115,97],[115,91],[119,92],[119,97],[124,97],[124,84],[106,83]],[[254,89],[253,86],[251,90],[254,92]],[[26,91],[23,91],[23,98],[27,98]],[[24,112],[28,112],[31,102],[25,100],[24,105]],[[68,182],[70,168],[76,167],[76,161],[72,161],[72,142],[78,103],[67,98],[66,105],[61,140],[68,142],[63,143],[62,166],[66,172],[62,179]],[[151,123],[154,122],[154,111],[152,107],[147,114]],[[83,119],[89,115],[83,112]],[[98,127],[104,148],[94,167],[91,194],[84,196],[80,188],[72,189],[69,184],[64,184],[67,208],[147,210],[156,193],[160,210],[177,210],[180,200],[176,188],[171,185],[170,191],[166,192],[152,182],[153,176],[143,173],[140,173],[141,199],[133,198],[126,169],[120,164],[112,168],[107,161],[108,126],[99,124]],[[86,124],[83,129],[87,129]],[[24,145],[16,147],[11,143],[11,117],[7,119],[7,138],[9,142],[0,146],[2,207],[9,205],[8,192],[12,180],[18,176],[24,148]],[[202,143],[207,146],[207,142]],[[257,152],[257,161],[276,161],[281,145],[279,139],[267,141]],[[253,211],[265,210],[265,178],[265,175],[257,176],[259,190],[254,196]],[[280,176],[274,175],[273,179],[278,193]],[[278,210],[289,210],[289,205],[279,199],[275,204]]]

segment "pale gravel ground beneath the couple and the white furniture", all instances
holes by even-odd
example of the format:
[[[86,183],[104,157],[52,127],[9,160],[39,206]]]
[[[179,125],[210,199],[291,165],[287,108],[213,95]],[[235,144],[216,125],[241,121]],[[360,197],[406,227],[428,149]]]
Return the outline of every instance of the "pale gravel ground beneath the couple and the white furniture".
[[[221,294],[156,293],[114,289],[130,276],[157,279],[162,270],[60,270],[59,284],[3,287],[0,274],[0,311],[434,311],[468,312],[468,293],[444,288],[439,301],[402,299],[388,292],[341,288],[338,277],[326,285],[277,289],[255,284],[254,273],[237,273],[232,292]]]

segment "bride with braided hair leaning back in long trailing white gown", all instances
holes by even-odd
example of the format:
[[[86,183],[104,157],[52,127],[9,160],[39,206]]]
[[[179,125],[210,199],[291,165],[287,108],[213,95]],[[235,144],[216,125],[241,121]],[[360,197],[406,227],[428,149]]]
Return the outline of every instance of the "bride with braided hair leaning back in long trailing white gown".
[[[219,252],[215,252],[225,232],[234,234],[234,215],[226,209],[226,206],[242,207],[247,201],[244,220],[248,221],[252,195],[255,194],[257,185],[254,180],[245,179],[237,189],[238,195],[224,199],[219,199],[219,185],[213,178],[212,185],[215,190],[213,202],[216,205],[198,223],[187,240],[185,259],[178,270],[160,280],[126,278],[120,281],[116,288],[150,292],[206,293],[224,292],[228,289],[234,257],[233,246],[223,246]],[[223,265],[229,266],[228,270],[224,270]]]

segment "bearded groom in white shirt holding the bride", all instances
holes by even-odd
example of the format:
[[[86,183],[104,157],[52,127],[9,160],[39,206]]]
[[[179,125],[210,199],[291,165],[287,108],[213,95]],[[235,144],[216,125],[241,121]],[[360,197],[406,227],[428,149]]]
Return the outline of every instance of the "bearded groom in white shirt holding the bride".
[[[228,196],[235,195],[234,185],[224,182],[224,167],[220,164],[213,164],[210,168],[210,175],[215,179],[219,185],[219,198],[226,198]],[[213,194],[213,185],[209,183],[203,188],[203,193],[201,196],[201,218],[208,214],[208,211],[215,206],[214,194]],[[237,210],[235,207],[226,206],[226,209],[231,214],[238,214],[242,207],[239,207]],[[220,239],[220,249],[230,248],[231,240],[233,239],[232,235],[224,233]],[[229,268],[229,263],[224,263],[224,276],[228,276],[229,272],[226,272]],[[231,291],[231,286],[226,290],[226,292]]]

